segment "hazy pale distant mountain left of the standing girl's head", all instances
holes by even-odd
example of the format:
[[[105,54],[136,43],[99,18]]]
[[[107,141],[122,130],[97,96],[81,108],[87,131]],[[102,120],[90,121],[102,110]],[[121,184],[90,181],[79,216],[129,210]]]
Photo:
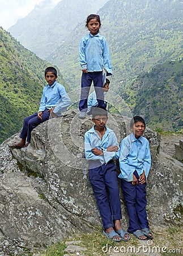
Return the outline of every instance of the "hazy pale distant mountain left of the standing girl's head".
[[[49,55],[63,44],[77,24],[91,12],[96,13],[107,1],[62,0],[57,6],[50,4],[49,0],[42,1],[8,31],[37,56],[49,60]],[[72,37],[70,40],[74,43]]]

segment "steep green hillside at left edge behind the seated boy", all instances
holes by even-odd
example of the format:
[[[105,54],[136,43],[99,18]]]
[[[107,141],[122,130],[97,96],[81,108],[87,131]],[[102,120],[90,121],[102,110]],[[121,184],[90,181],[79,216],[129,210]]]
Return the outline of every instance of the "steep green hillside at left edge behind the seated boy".
[[[0,28],[0,143],[21,129],[24,117],[39,109],[49,65]]]

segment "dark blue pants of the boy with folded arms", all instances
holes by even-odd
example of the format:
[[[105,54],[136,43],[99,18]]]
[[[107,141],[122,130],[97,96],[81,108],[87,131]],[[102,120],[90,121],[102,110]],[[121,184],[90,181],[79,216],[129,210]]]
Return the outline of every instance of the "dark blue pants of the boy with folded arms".
[[[88,172],[104,229],[110,228],[114,226],[114,220],[122,218],[116,164],[110,162]]]

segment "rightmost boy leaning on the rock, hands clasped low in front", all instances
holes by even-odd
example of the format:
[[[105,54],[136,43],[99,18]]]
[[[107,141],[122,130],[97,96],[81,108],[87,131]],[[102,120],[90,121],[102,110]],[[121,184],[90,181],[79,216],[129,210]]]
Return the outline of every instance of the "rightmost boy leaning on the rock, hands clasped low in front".
[[[139,240],[153,238],[146,213],[146,180],[151,167],[149,143],[142,137],[146,123],[142,117],[130,122],[132,133],[124,138],[120,146],[120,170],[122,192],[129,215],[128,232]]]

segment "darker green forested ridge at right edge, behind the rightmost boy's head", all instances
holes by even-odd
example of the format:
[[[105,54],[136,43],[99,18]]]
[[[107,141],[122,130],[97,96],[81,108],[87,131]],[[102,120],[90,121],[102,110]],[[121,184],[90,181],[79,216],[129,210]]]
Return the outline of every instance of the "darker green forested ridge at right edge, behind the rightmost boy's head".
[[[148,126],[169,131],[182,129],[182,60],[156,65],[151,72],[139,76],[128,90],[134,92],[134,114],[143,115]]]

